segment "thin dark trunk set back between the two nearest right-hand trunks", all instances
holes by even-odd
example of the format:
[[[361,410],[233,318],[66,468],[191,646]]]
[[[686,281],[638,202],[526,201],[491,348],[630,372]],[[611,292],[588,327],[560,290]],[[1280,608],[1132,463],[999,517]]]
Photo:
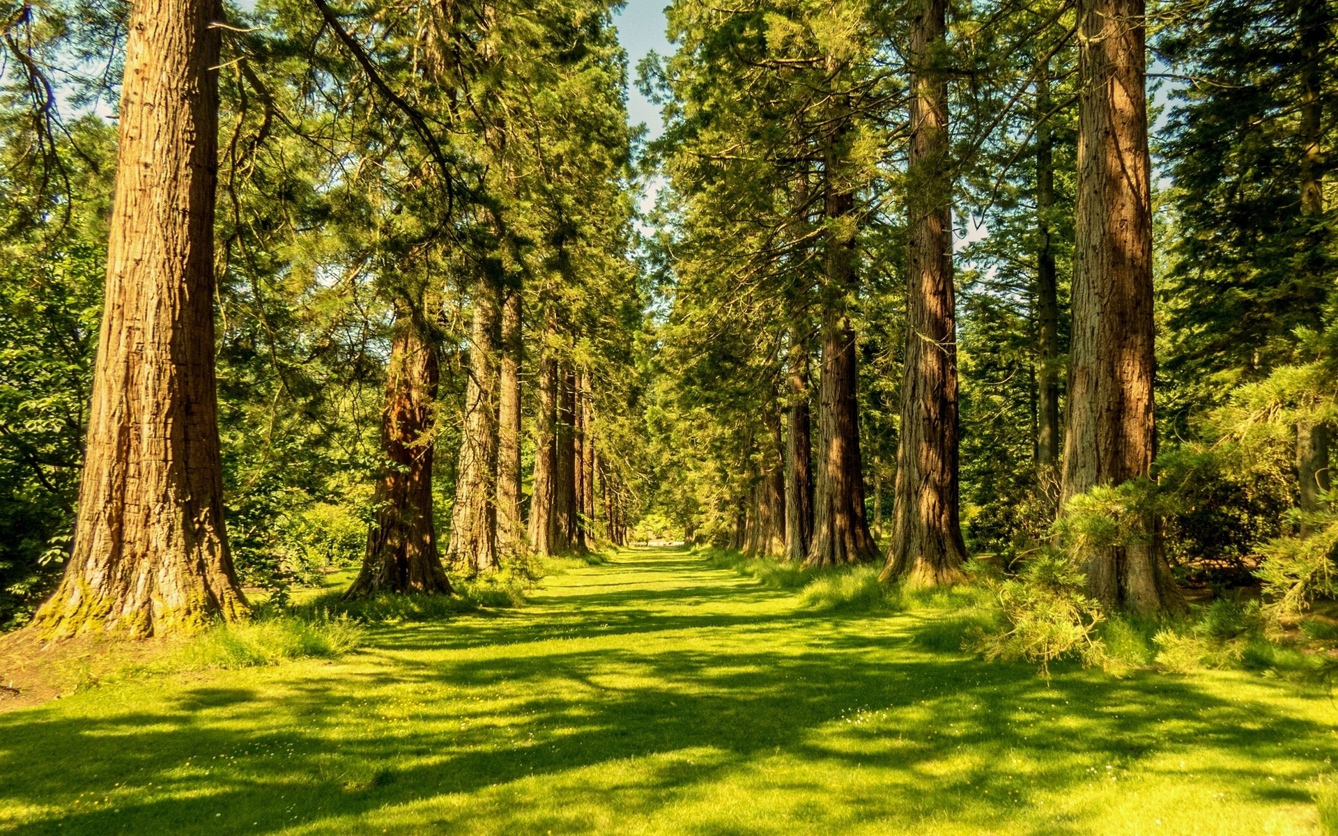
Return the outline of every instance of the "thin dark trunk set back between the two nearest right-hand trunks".
[[[1054,134],[1050,128],[1050,68],[1042,63],[1036,83],[1036,269],[1037,436],[1036,460],[1045,469],[1060,463],[1060,298],[1050,239],[1054,211]]]

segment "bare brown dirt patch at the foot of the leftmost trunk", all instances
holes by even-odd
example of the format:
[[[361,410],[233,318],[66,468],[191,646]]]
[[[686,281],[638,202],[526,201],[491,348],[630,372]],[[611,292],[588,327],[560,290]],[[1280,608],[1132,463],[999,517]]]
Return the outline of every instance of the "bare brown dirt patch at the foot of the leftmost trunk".
[[[0,712],[59,700],[127,665],[161,655],[165,639],[116,639],[82,635],[43,641],[25,629],[0,635]]]

